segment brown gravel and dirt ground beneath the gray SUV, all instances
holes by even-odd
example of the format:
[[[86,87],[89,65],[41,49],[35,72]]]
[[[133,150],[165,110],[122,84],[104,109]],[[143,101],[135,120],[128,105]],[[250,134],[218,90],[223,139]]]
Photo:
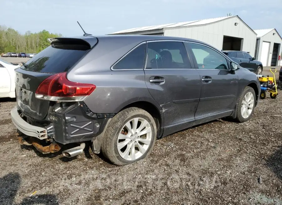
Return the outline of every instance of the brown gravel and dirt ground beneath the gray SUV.
[[[282,204],[281,100],[261,100],[243,124],[221,119],[159,139],[147,159],[114,166],[90,149],[68,159],[19,145],[16,104],[0,99],[0,204]]]

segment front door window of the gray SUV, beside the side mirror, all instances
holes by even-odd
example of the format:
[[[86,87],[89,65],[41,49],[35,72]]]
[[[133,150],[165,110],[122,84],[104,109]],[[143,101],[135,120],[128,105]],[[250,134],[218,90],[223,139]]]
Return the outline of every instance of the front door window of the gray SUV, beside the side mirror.
[[[200,44],[188,43],[196,58],[198,69],[228,69],[226,58],[217,51]]]

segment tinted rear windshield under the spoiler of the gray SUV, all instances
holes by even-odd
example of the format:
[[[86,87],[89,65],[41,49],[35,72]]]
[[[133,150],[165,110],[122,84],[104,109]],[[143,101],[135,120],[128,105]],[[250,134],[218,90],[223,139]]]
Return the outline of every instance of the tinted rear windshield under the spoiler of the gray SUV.
[[[46,73],[68,71],[91,47],[85,41],[56,42],[21,66],[24,70]]]

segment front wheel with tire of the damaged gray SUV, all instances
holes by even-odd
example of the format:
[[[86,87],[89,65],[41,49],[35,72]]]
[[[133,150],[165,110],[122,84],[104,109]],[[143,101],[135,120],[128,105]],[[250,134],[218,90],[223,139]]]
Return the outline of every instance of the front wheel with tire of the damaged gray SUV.
[[[255,107],[255,92],[252,87],[245,87],[237,104],[236,121],[243,123],[248,121]]]

